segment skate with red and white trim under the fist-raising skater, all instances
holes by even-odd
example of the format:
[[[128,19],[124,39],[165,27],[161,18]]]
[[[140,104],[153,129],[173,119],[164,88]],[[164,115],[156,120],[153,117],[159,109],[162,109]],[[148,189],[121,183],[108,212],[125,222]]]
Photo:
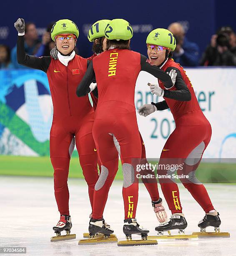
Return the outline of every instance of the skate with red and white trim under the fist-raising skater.
[[[61,215],[58,224],[55,227],[53,227],[56,236],[51,237],[51,242],[75,239],[75,234],[70,235],[71,228],[72,223],[70,215]],[[61,232],[64,230],[66,232],[66,235],[61,236]]]

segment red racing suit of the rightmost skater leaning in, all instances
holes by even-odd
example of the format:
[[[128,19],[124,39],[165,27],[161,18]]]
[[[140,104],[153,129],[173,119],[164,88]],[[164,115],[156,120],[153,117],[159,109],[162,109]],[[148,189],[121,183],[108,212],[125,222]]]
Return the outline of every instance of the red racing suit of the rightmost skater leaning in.
[[[171,88],[166,88],[163,82],[159,80],[159,86],[164,89],[163,98],[165,101],[156,104],[152,102],[152,104],[156,105],[158,110],[170,108],[176,128],[163,147],[159,166],[162,168],[167,164],[169,166],[171,164],[180,165],[179,168],[176,168],[179,175],[185,175],[180,178],[184,187],[188,189],[203,210],[209,212],[214,210],[213,205],[205,187],[196,178],[195,171],[201,162],[204,150],[210,142],[211,125],[198,104],[193,86],[184,69],[173,59],[168,59],[161,69],[165,72],[175,69],[177,72],[176,84]],[[171,99],[170,95],[178,90],[181,83],[188,88],[190,98],[185,101]],[[181,94],[181,90],[179,93]],[[161,168],[158,168],[159,175],[173,174],[170,170]],[[177,184],[173,179],[161,178],[159,182],[171,212],[182,212]]]

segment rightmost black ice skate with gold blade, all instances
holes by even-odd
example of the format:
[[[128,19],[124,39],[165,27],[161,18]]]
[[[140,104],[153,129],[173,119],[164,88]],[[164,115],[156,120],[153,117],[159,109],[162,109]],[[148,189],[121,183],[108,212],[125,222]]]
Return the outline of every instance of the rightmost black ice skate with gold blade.
[[[220,232],[221,220],[217,211],[206,213],[204,218],[199,221],[200,232],[193,232],[201,238],[208,237],[230,237],[228,232]],[[207,227],[214,227],[215,232],[206,232]]]

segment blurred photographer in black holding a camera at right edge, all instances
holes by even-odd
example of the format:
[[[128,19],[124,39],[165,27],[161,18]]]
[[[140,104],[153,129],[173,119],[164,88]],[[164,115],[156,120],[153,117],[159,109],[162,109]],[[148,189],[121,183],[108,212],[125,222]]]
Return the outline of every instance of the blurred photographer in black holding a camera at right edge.
[[[236,36],[231,27],[221,27],[211,37],[203,53],[201,66],[236,66]]]

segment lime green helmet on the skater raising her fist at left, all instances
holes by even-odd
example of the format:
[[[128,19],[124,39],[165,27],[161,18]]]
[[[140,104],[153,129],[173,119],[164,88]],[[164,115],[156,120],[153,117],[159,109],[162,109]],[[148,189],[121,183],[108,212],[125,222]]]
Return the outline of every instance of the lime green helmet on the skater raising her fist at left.
[[[51,38],[53,41],[55,41],[55,36],[60,34],[74,34],[76,38],[78,38],[79,30],[76,24],[71,20],[58,20],[51,30]]]

